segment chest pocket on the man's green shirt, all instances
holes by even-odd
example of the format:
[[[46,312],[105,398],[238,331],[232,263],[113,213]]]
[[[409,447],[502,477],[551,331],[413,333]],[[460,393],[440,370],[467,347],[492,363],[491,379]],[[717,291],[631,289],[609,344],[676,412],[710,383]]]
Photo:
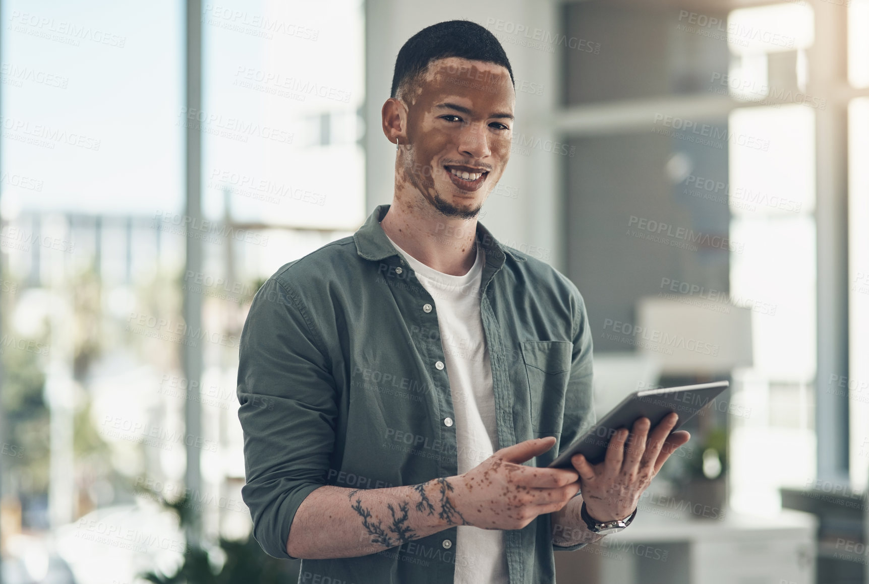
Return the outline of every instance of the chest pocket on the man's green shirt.
[[[531,429],[558,434],[564,417],[564,396],[570,379],[574,344],[569,341],[523,341],[522,359],[528,380]]]

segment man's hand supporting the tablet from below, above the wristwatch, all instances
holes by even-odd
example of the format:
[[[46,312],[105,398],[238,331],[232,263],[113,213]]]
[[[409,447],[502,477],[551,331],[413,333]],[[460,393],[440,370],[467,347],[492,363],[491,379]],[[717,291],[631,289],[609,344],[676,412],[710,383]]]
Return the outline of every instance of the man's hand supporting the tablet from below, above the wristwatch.
[[[647,417],[641,417],[634,422],[629,440],[627,428],[618,430],[610,438],[602,463],[590,464],[581,454],[571,458],[580,474],[578,482],[588,515],[608,522],[624,519],[634,512],[640,495],[660,467],[675,449],[691,438],[685,430],[670,434],[678,418],[675,412],[669,414],[649,434],[651,423]]]

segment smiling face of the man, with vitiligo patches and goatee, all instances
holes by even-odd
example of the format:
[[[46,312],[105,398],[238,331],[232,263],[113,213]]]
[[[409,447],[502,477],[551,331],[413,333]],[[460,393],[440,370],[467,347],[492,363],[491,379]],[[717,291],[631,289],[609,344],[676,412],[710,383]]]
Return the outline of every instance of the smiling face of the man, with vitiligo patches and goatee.
[[[409,148],[399,187],[409,182],[446,216],[474,218],[510,158],[515,93],[509,72],[489,62],[439,59],[403,101]]]

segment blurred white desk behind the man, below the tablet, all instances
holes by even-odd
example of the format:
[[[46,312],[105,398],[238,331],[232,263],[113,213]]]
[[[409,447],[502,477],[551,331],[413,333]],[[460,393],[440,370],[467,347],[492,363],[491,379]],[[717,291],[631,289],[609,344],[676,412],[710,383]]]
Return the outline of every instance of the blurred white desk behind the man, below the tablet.
[[[555,552],[558,584],[814,584],[817,518],[637,513],[620,534]]]

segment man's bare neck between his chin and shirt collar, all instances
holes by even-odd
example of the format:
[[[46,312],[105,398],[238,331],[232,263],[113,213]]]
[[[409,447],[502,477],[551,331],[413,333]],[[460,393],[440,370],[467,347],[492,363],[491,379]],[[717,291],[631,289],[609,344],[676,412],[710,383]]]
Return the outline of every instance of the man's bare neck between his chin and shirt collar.
[[[474,266],[476,218],[445,217],[432,207],[417,209],[393,200],[381,227],[402,250],[438,272],[464,276]]]

